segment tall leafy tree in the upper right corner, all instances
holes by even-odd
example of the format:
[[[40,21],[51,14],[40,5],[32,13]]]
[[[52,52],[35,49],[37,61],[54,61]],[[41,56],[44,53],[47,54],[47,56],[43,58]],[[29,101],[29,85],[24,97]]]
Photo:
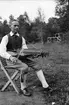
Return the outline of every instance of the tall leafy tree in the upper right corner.
[[[57,1],[57,0],[56,0]],[[63,32],[69,30],[69,0],[58,0],[56,15],[59,16],[60,27]]]

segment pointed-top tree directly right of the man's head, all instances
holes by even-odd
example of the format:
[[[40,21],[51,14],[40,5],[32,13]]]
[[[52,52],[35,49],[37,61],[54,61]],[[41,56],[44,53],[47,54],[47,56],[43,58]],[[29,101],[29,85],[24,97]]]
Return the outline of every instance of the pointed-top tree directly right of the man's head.
[[[30,31],[30,20],[29,20],[29,17],[27,15],[27,13],[25,12],[23,15],[20,15],[18,18],[18,21],[19,21],[19,33],[25,37],[25,39],[27,40],[28,39],[28,34],[29,34],[29,31]]]

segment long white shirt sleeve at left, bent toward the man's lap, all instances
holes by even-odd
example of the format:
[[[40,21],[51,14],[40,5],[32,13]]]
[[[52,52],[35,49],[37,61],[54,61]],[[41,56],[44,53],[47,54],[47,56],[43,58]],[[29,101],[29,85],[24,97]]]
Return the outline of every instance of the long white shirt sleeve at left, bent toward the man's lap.
[[[2,41],[0,43],[0,56],[9,59],[11,55],[7,52],[6,48],[7,43],[8,43],[8,36],[6,35],[2,38]]]

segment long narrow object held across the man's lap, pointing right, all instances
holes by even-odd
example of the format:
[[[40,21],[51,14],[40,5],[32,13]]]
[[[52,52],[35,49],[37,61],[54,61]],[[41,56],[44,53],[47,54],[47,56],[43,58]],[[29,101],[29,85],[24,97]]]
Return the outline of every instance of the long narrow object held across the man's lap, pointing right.
[[[17,53],[16,51],[9,51],[8,52],[9,54],[11,54],[12,56],[16,56],[16,57],[19,57],[19,56],[25,56],[25,57],[32,57],[32,58],[37,58],[39,56],[41,57],[46,57],[46,56],[49,56],[49,52],[46,52],[46,51],[42,51],[40,49],[25,49],[23,50],[23,52],[19,52]]]

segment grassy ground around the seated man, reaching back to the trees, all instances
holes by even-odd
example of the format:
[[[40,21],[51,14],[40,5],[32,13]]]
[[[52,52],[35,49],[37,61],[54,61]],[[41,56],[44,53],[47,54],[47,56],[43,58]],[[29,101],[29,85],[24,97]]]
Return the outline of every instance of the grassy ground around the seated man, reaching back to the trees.
[[[48,43],[43,46],[37,43],[34,46],[49,52],[49,56],[35,60],[42,66],[46,80],[54,91],[51,94],[44,93],[36,74],[30,70],[27,83],[33,96],[18,96],[12,88],[8,88],[5,92],[0,92],[0,105],[52,105],[52,102],[55,102],[55,105],[69,105],[69,45]],[[5,81],[5,74],[1,70],[0,88]],[[17,84],[19,86],[19,82]]]

